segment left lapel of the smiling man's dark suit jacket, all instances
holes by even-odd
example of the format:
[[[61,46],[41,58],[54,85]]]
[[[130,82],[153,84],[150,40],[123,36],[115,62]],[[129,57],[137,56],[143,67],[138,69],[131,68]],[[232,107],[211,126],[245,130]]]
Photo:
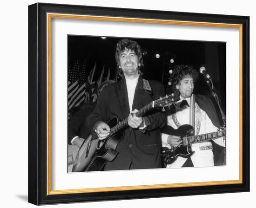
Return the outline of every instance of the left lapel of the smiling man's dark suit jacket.
[[[124,120],[125,118],[128,117],[128,115],[130,113],[128,92],[127,92],[125,78],[122,81],[120,81],[120,83],[117,87],[116,93],[119,98],[119,104],[121,106],[122,117],[120,117],[120,119]]]

